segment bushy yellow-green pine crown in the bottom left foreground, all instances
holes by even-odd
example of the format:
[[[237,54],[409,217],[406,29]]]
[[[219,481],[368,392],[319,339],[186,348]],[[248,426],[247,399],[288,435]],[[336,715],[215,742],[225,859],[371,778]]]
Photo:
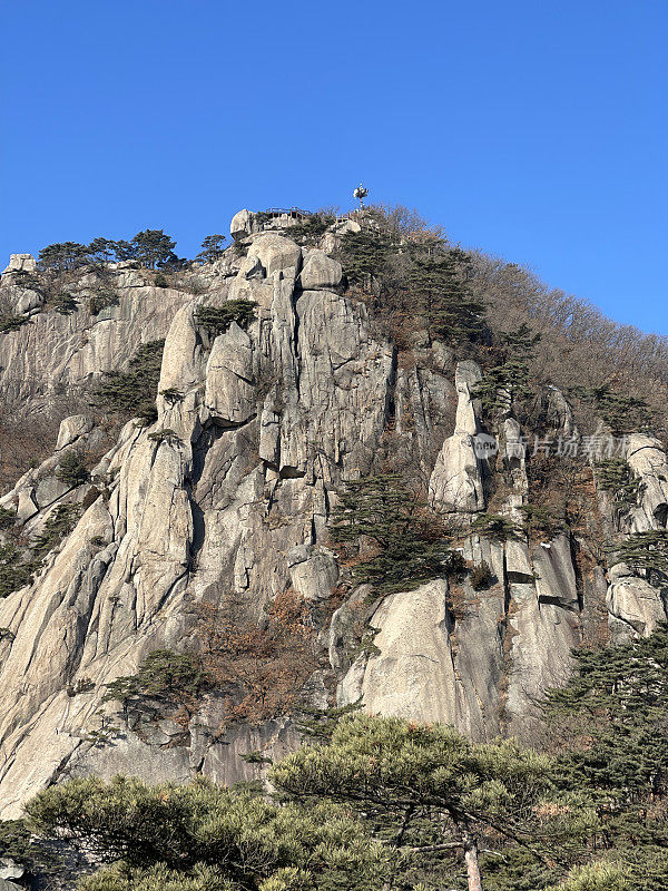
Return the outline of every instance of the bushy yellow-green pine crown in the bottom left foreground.
[[[379,891],[393,862],[345,807],[281,807],[204,780],[72,780],[27,812],[38,832],[120,861],[82,891]]]

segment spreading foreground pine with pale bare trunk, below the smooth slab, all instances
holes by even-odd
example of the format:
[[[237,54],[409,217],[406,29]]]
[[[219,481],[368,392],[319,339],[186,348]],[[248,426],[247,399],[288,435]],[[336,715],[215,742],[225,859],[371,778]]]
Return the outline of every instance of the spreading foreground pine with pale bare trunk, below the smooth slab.
[[[469,891],[482,891],[480,848],[533,849],[533,809],[551,790],[550,761],[514,742],[477,745],[454,727],[395,717],[344,717],[322,746],[289,755],[271,772],[297,801],[345,804],[391,849],[420,860],[459,851]]]

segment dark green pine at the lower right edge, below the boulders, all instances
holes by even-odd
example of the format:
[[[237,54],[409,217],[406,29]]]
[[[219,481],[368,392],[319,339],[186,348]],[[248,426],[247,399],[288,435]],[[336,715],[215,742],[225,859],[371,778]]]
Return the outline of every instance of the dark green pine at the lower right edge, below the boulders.
[[[625,889],[668,891],[668,624],[623,646],[576,650],[573,676],[542,708],[557,784],[597,810],[587,846],[620,864]]]

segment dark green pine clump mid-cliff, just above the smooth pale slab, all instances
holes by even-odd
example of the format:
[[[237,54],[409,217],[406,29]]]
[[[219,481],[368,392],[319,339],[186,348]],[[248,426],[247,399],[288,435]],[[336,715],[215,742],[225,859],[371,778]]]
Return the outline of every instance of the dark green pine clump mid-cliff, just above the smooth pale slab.
[[[344,559],[352,557],[353,577],[381,593],[415,588],[464,570],[461,555],[449,547],[441,519],[396,473],[347,482],[330,537]],[[372,544],[372,555],[358,559],[354,551],[364,539]]]

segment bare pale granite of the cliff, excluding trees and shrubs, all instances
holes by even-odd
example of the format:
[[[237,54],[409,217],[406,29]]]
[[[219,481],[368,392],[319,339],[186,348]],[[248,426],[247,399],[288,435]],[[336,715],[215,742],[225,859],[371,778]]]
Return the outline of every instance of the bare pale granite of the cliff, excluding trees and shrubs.
[[[72,414],[56,453],[0,499],[29,537],[58,506],[81,507],[33,584],[0,601],[1,817],[68,776],[234,782],[257,776],[243,760],[249,751],[278,757],[296,745],[288,717],[226,725],[215,697],[178,722],[157,705],[124,713],[104,702],[106,685],[151,650],[193,645],[203,605],[232,598],[239,620],[262,624],[276,596],[294,590],[330,644],[332,669],[308,682],[314,703],[332,701],[337,686],[342,703],[361,696],[373,712],[452,722],[480,740],[530,734],[532,697],[566,676],[597,597],[603,609],[607,597],[613,629],[647,634],[665,615],[644,579],[612,577],[607,590],[601,568],[578,558],[586,541],[466,531],[490,503],[490,469],[475,449],[480,369],[454,370],[438,342],[402,363],[366,306],[337,293],[335,260],[299,247],[287,229],[256,232],[247,212],[232,229],[246,256],[228,252],[205,270],[203,296],[121,270],[119,304],[105,317],[47,311],[0,337],[0,382],[32,405],[121,368],[140,342],[166,340],[151,427],[128,422],[91,479],[68,486],[57,473],[63,450],[94,452],[98,435]],[[330,237],[336,226],[323,246]],[[198,325],[200,303],[230,298],[255,302],[246,330]],[[568,403],[552,400],[552,423],[572,431]],[[513,457],[521,432],[508,418],[499,434],[510,480],[500,509],[511,518],[528,491]],[[481,589],[469,577],[441,578],[377,598],[346,582],[327,538],[337,491],[377,472],[389,443],[412,456],[434,508],[462,523],[463,556],[489,569]],[[666,457],[655,440],[635,438],[629,463],[647,482],[632,521],[658,528]],[[334,594],[343,596],[335,611]]]

